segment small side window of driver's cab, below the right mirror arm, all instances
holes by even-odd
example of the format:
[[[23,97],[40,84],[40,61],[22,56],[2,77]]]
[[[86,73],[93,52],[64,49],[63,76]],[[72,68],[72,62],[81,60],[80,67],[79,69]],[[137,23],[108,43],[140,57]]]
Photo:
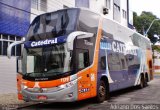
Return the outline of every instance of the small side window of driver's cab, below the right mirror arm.
[[[77,68],[83,69],[89,66],[89,52],[87,50],[77,49]]]

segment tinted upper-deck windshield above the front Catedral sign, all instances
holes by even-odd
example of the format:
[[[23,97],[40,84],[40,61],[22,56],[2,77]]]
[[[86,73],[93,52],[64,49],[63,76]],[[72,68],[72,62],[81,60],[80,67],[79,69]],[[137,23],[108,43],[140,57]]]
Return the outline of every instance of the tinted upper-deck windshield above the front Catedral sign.
[[[68,35],[75,31],[79,9],[64,9],[40,15],[30,25],[27,41]]]

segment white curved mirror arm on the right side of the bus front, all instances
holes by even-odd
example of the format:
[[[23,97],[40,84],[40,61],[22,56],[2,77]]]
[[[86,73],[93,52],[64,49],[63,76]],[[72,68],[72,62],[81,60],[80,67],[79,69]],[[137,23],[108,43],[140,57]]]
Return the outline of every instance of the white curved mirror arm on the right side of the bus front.
[[[83,39],[83,38],[89,38],[93,36],[94,36],[93,33],[88,33],[88,32],[82,32],[82,31],[72,32],[71,34],[69,34],[67,38],[67,50],[68,51],[73,50],[73,43],[76,37],[77,39]]]

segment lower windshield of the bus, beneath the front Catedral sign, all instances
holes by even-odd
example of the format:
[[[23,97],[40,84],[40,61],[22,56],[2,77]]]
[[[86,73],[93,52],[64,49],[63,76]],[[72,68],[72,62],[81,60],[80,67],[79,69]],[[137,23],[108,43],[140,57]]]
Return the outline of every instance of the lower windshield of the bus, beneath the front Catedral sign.
[[[65,44],[41,48],[26,48],[26,76],[54,77],[71,71],[70,53]]]

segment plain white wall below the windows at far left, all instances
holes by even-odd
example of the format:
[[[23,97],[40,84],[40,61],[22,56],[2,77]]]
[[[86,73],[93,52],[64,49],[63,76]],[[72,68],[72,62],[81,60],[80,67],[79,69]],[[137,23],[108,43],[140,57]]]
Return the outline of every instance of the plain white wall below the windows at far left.
[[[16,58],[0,56],[0,94],[17,93]]]

